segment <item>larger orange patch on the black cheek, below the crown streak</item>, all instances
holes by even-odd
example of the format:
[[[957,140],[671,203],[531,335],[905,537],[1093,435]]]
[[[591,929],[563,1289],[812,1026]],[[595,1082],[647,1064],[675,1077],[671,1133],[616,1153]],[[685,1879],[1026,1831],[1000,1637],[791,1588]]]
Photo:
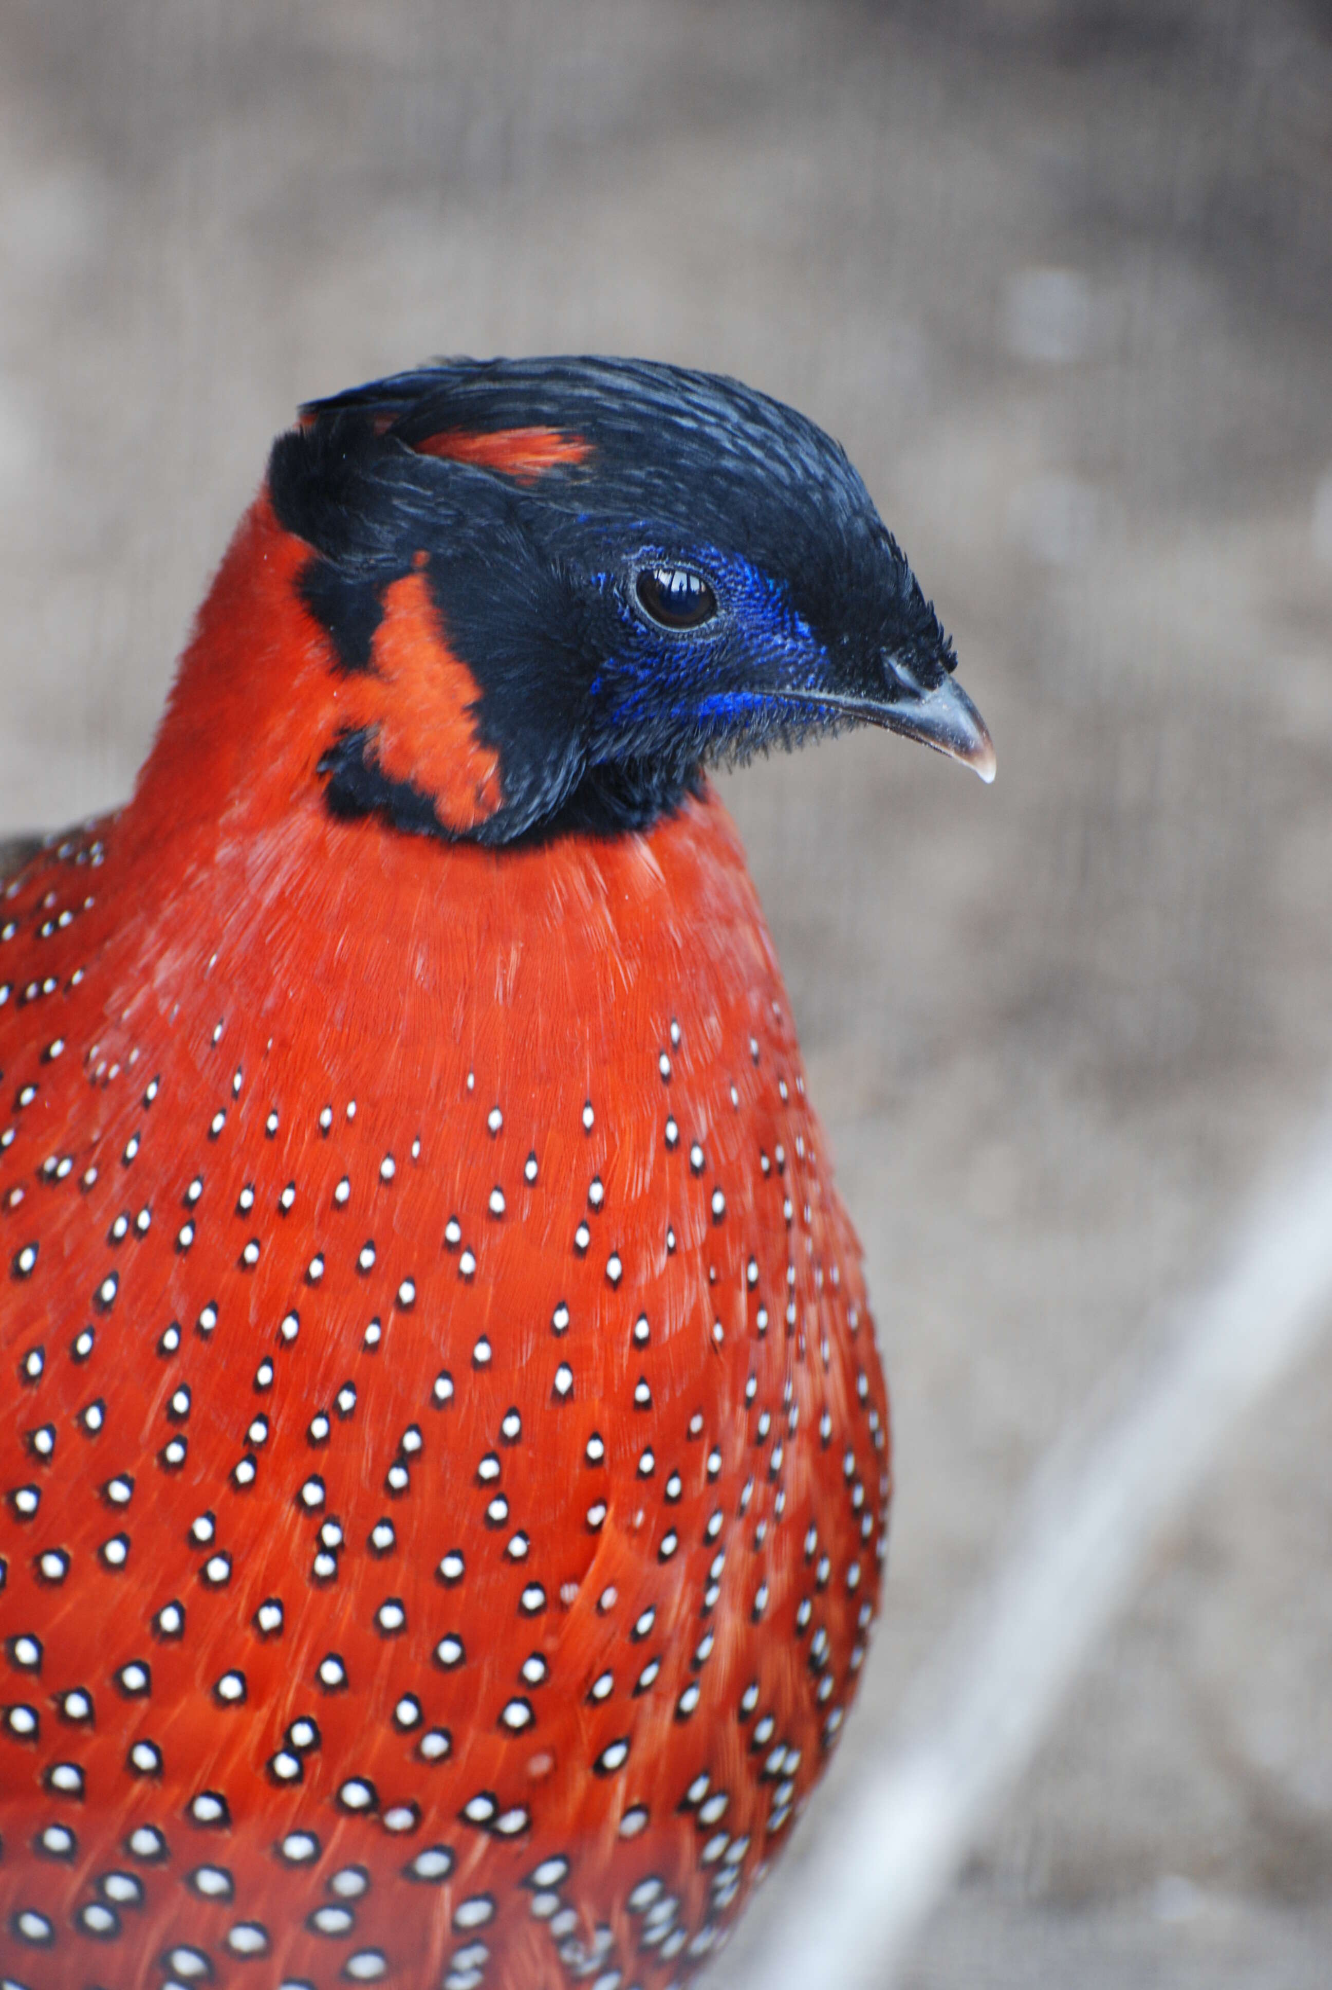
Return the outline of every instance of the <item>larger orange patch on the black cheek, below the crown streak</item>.
[[[450,830],[488,822],[504,802],[500,756],[476,736],[480,687],[444,639],[420,565],[384,589],[370,665],[346,685],[346,706],[374,728],[380,770],[428,794]]]

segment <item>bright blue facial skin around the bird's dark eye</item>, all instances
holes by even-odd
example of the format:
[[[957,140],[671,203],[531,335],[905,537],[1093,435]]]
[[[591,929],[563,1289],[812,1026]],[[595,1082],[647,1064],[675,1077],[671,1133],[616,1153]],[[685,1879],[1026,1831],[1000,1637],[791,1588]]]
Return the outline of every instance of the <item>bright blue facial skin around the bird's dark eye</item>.
[[[663,629],[637,607],[643,567],[691,567],[717,595],[717,615],[697,629]],[[615,605],[623,643],[589,685],[597,710],[593,754],[603,744],[651,750],[663,726],[745,750],[753,726],[771,736],[816,724],[808,704],[782,698],[826,683],[828,653],[771,575],[715,545],[643,545],[623,569],[591,575]]]

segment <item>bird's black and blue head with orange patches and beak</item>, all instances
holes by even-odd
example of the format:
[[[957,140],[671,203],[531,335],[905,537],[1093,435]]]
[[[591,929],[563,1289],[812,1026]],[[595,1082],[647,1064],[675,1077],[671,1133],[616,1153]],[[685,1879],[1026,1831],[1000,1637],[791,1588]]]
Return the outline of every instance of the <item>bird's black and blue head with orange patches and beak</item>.
[[[643,828],[705,764],[848,724],[994,774],[844,452],[735,380],[446,360],[309,406],[269,498],[340,681],[340,814],[484,844]]]

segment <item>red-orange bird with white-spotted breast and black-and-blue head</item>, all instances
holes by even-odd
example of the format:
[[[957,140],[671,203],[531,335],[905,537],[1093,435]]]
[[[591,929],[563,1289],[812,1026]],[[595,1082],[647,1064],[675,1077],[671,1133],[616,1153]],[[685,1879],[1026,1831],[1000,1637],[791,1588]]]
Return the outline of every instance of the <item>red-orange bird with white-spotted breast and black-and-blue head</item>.
[[[842,448],[440,360],[277,438],[0,890],[6,1990],[665,1990],[842,1731],[890,1425],[709,770],[986,780]]]

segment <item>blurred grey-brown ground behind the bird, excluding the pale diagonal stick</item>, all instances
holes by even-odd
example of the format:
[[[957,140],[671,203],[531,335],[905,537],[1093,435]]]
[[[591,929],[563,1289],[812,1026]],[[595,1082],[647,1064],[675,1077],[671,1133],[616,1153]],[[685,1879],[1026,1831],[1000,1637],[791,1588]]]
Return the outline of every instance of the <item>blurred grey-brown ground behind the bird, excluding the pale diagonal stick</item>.
[[[798,404],[956,633],[994,790],[727,778],[894,1385],[842,1779],[1328,1096],[1330,320],[1326,0],[0,4],[0,834],[127,792],[297,400],[432,352]],[[1332,1345],[912,1990],[1328,1982],[1330,1455]]]

